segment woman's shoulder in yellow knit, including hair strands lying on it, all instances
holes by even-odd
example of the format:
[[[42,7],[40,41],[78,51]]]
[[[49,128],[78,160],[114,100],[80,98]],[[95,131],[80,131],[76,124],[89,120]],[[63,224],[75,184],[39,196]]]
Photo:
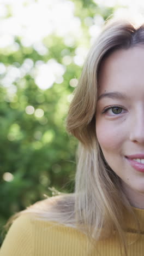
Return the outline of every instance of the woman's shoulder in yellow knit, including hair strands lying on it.
[[[79,255],[74,247],[83,251],[87,237],[74,226],[73,196],[51,197],[21,212],[10,226],[0,256]]]

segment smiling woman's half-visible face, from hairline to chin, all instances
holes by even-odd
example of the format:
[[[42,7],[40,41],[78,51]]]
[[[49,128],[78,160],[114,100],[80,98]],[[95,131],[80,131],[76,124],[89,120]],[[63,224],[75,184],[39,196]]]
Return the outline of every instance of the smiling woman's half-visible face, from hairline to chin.
[[[96,133],[131,205],[144,208],[144,46],[117,50],[103,61]]]

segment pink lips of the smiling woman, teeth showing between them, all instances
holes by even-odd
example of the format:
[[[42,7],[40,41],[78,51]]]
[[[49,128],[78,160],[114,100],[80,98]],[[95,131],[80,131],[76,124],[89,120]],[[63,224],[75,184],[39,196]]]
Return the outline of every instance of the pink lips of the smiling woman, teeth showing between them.
[[[130,156],[125,156],[125,159],[129,162],[129,164],[135,168],[136,171],[139,172],[144,172],[144,164],[141,164],[140,162],[137,162],[133,159],[139,158],[139,159],[144,159],[144,154],[136,154],[136,155],[130,155]]]

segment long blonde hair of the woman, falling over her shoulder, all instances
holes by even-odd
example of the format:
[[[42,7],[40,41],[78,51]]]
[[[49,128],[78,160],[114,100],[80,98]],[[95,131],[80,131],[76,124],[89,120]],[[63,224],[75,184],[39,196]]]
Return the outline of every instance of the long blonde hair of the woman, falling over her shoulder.
[[[67,131],[80,141],[75,193],[43,200],[21,212],[33,212],[43,219],[74,226],[94,241],[115,232],[125,255],[124,212],[127,210],[133,216],[134,213],[119,177],[105,161],[99,146],[95,132],[95,109],[101,62],[115,50],[140,44],[144,44],[144,25],[136,27],[126,20],[106,22],[89,51],[66,122]],[[15,217],[19,215],[17,213]]]

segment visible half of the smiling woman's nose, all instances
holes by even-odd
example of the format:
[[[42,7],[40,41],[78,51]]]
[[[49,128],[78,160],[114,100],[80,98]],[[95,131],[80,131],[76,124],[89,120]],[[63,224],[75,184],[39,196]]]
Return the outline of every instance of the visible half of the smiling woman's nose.
[[[135,114],[133,124],[130,127],[130,140],[144,145],[144,109],[141,114]]]

